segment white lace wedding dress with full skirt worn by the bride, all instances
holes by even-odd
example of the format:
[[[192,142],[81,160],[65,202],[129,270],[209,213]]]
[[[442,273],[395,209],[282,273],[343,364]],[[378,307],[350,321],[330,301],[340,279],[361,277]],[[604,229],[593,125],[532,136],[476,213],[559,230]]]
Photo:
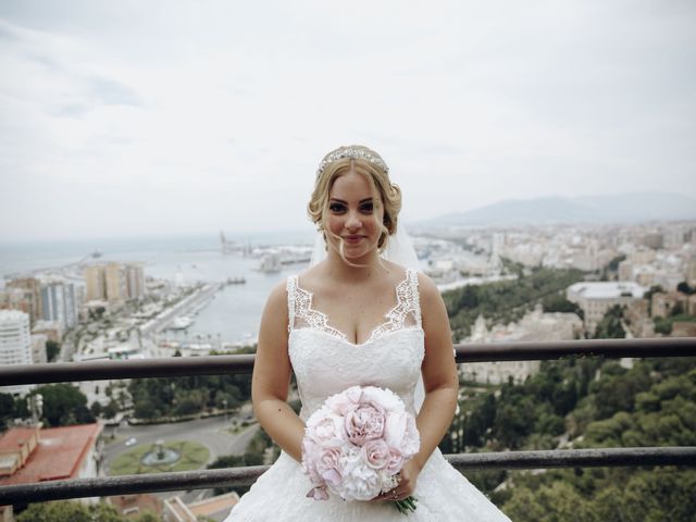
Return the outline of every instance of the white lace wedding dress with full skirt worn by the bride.
[[[360,345],[328,324],[328,318],[312,309],[312,296],[289,277],[288,351],[297,377],[307,420],[324,400],[349,386],[390,388],[415,414],[414,389],[424,355],[424,333],[418,276],[408,269],[397,286],[397,304],[385,322]],[[455,470],[435,449],[419,474],[413,496],[418,508],[401,514],[388,501],[345,501],[330,494],[328,500],[307,498],[312,488],[300,464],[285,452],[241,497],[225,522],[257,521],[508,521],[498,508]]]

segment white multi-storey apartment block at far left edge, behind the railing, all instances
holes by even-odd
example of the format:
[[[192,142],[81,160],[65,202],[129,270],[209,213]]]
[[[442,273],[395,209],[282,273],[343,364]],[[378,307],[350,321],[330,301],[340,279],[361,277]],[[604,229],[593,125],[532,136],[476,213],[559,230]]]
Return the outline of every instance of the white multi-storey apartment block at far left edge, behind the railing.
[[[0,364],[32,364],[29,315],[18,310],[0,310]],[[27,385],[2,386],[3,394],[25,394]]]

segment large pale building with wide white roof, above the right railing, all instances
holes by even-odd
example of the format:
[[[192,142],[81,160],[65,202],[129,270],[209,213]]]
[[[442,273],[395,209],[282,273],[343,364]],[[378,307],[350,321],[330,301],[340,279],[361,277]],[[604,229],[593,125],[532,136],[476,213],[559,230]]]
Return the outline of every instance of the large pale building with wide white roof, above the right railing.
[[[566,290],[569,301],[577,304],[585,314],[585,330],[595,333],[601,321],[614,304],[630,304],[643,299],[648,289],[633,282],[584,282],[575,283]]]

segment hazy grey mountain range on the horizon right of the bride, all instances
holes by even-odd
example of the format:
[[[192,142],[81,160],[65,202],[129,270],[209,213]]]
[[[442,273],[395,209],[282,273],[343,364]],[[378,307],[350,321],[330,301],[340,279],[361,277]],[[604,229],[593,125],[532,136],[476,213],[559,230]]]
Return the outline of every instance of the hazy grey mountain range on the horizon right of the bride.
[[[579,198],[508,199],[444,214],[417,226],[612,224],[696,220],[696,200],[669,192],[627,192]]]

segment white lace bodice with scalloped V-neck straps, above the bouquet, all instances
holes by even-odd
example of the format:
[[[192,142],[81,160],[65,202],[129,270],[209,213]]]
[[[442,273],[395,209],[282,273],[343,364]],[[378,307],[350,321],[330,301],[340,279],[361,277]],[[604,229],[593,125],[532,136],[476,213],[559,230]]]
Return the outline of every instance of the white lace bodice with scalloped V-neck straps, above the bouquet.
[[[287,281],[288,353],[307,420],[324,400],[356,384],[388,387],[412,412],[413,393],[424,356],[418,274],[407,270],[396,304],[362,344],[355,345],[312,308],[312,294]]]

